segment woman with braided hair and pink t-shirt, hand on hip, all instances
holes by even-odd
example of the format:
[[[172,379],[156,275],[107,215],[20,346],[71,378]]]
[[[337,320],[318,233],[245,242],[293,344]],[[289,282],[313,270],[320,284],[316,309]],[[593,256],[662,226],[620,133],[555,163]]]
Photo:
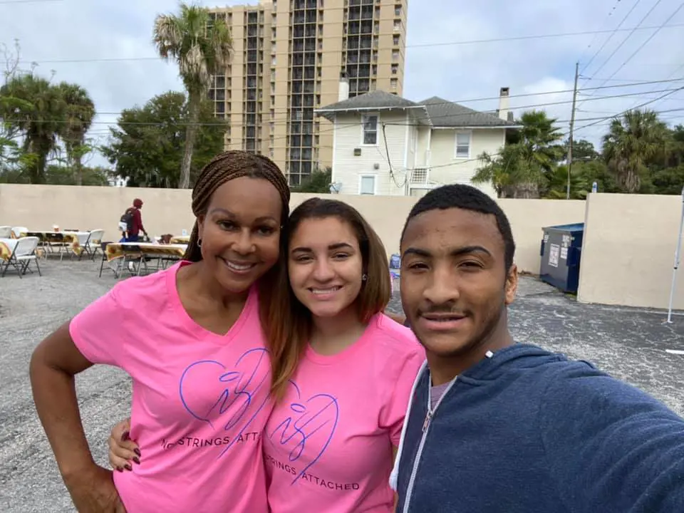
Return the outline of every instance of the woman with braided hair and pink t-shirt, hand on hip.
[[[192,212],[183,261],[116,284],[33,352],[36,409],[79,512],[268,511],[259,296],[263,317],[289,188],[266,157],[224,152],[200,173]],[[136,472],[113,475],[88,448],[74,376],[97,363],[133,378]]]

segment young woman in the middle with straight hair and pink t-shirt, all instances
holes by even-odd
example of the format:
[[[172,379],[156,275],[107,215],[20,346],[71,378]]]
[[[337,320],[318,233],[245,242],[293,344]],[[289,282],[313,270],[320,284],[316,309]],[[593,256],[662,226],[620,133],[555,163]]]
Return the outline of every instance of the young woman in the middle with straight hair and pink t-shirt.
[[[393,451],[425,353],[382,313],[383,244],[356,209],[319,198],[294,210],[282,244],[265,323],[276,398],[262,433],[269,509],[392,512]],[[138,448],[124,430],[110,437],[121,470]]]

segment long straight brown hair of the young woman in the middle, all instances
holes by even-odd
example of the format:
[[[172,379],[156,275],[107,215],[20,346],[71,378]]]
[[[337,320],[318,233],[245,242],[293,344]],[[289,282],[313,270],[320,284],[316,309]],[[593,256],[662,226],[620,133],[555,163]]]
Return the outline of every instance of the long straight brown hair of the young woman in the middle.
[[[358,318],[367,323],[385,309],[390,301],[391,286],[387,254],[383,242],[351,205],[336,199],[307,199],[292,212],[281,236],[281,259],[276,264],[274,283],[268,291],[268,311],[264,312],[264,329],[271,344],[271,369],[273,374],[271,393],[282,398],[287,382],[297,368],[302,351],[309,343],[312,331],[311,312],[301,304],[291,289],[287,271],[289,243],[293,234],[305,219],[336,217],[353,229],[363,261],[363,282],[356,299]]]

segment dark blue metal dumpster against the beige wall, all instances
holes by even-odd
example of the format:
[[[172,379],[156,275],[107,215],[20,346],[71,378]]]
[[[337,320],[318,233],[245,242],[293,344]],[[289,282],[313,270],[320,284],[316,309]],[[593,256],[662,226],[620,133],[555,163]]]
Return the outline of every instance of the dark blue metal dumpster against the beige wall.
[[[539,279],[564,292],[577,293],[584,223],[542,228]]]

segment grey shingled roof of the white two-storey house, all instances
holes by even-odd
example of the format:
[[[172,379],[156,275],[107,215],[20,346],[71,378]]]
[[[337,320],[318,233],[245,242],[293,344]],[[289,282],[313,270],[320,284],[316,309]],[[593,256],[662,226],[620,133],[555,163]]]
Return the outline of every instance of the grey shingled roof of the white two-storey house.
[[[328,119],[334,113],[350,110],[384,110],[384,109],[420,109],[416,117],[420,123],[438,128],[513,128],[517,123],[502,120],[497,115],[482,113],[477,110],[433,96],[422,102],[413,102],[383,90],[354,96],[326,107],[316,109],[317,113]]]

